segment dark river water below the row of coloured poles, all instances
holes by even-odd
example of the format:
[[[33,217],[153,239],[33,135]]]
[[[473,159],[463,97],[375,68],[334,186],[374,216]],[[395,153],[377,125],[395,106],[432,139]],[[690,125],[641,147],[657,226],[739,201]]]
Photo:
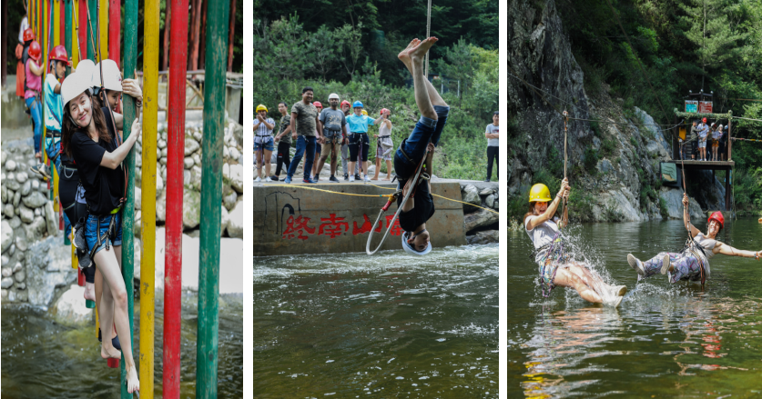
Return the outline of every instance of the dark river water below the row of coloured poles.
[[[155,397],[161,397],[163,314],[157,295],[154,340]],[[196,397],[197,294],[183,294],[180,341],[180,397]],[[135,303],[135,347],[139,338]],[[219,298],[218,396],[243,395],[243,302],[240,294]],[[95,323],[57,324],[29,306],[3,306],[3,397],[118,398],[119,369],[100,357]],[[137,350],[134,352],[136,363]],[[139,367],[139,365],[138,365]]]

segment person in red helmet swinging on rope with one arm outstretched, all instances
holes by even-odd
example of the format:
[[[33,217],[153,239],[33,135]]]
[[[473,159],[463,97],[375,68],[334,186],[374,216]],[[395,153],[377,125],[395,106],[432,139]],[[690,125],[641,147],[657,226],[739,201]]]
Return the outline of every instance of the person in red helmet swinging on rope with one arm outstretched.
[[[725,217],[721,212],[715,212],[709,216],[706,234],[701,233],[696,226],[691,224],[690,214],[687,213],[688,201],[688,195],[683,194],[683,206],[686,209],[683,213],[683,222],[686,224],[686,229],[690,231],[693,243],[688,242],[686,248],[680,253],[662,252],[645,262],[641,262],[633,254],[627,254],[627,262],[637,272],[638,280],[661,273],[667,274],[669,282],[672,284],[681,280],[700,281],[701,284],[704,284],[710,273],[709,260],[715,254],[756,258],[757,260],[762,256],[762,251],[741,251],[716,240],[717,234],[725,227]]]

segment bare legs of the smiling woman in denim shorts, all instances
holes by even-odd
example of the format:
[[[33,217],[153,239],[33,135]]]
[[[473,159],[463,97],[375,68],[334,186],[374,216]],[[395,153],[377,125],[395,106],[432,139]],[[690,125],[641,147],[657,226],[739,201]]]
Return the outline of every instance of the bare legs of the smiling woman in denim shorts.
[[[101,320],[104,325],[111,325],[112,315],[113,320],[117,324],[117,333],[122,336],[120,344],[122,344],[122,354],[125,358],[125,368],[127,370],[127,392],[132,393],[139,389],[140,383],[137,381],[137,370],[135,368],[135,360],[132,357],[132,340],[129,329],[129,320],[127,319],[127,287],[125,287],[125,281],[122,278],[120,265],[117,261],[117,255],[115,253],[121,252],[121,246],[112,246],[108,250],[103,249],[98,251],[95,256],[95,261],[98,269],[103,274],[104,295],[101,299],[103,309],[100,313],[103,314]],[[131,289],[132,287],[130,287]],[[108,309],[113,309],[109,312]],[[111,340],[104,339],[101,352],[114,351],[118,354],[118,351],[111,344]]]

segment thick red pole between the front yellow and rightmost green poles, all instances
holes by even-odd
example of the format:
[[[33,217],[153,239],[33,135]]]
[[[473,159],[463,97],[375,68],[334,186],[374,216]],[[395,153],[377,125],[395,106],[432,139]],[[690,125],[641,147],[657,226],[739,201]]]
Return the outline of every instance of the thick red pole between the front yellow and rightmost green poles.
[[[164,397],[180,397],[180,313],[182,303],[183,168],[185,81],[188,60],[188,0],[171,0],[169,27],[167,222],[164,254]]]

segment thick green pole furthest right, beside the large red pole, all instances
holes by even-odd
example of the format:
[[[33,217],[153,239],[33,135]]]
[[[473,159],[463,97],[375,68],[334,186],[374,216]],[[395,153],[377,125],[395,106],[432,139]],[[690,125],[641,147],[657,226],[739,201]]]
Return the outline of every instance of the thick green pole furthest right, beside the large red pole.
[[[201,162],[201,228],[198,254],[196,397],[217,398],[219,222],[222,203],[222,139],[228,66],[229,1],[207,10],[204,140]]]

